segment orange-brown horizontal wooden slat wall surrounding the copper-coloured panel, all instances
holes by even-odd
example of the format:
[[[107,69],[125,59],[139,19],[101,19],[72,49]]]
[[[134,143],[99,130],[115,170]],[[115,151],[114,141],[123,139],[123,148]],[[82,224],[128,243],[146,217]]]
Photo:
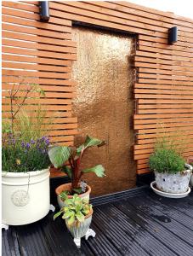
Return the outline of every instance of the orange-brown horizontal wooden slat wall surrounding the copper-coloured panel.
[[[3,84],[18,81],[18,76],[42,84],[48,97],[42,100],[45,106],[63,115],[52,131],[54,141],[72,143],[77,132],[77,119],[71,117],[76,85],[71,80],[76,60],[71,24],[78,21],[138,35],[133,89],[137,172],[149,172],[148,158],[162,125],[168,135],[188,135],[184,155],[193,155],[193,20],[120,1],[50,2],[50,15],[49,22],[42,23],[37,2],[3,2]],[[168,45],[172,26],[178,26],[179,40]]]

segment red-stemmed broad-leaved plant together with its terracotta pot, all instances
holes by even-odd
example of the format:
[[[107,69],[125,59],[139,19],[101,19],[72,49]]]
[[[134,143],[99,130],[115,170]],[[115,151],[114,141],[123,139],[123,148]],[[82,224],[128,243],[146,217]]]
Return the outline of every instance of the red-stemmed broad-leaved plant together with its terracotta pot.
[[[94,137],[86,137],[85,142],[78,148],[67,146],[55,146],[49,148],[48,155],[55,168],[60,168],[62,172],[71,178],[71,183],[60,185],[56,190],[57,199],[60,207],[64,206],[65,197],[71,198],[72,195],[78,194],[82,198],[88,198],[91,188],[86,185],[83,188],[80,183],[82,175],[88,172],[94,172],[97,177],[105,176],[105,169],[97,165],[88,169],[81,169],[81,160],[85,151],[94,146],[102,146],[105,142]],[[68,161],[68,162],[67,162]],[[85,190],[85,191],[84,191]]]

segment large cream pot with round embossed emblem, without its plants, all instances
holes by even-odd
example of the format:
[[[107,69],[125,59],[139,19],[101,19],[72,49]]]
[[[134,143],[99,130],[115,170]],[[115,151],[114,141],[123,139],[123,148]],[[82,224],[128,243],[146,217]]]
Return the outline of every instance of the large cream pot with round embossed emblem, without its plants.
[[[49,212],[49,169],[2,173],[2,223],[33,223]]]

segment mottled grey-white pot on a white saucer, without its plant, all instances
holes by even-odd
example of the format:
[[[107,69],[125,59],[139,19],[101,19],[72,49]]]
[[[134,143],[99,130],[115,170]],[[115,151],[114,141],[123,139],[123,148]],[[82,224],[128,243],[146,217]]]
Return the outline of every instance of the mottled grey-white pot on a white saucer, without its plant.
[[[156,187],[167,193],[185,193],[189,188],[190,175],[191,170],[185,170],[184,173],[178,172],[176,174],[155,172]]]

